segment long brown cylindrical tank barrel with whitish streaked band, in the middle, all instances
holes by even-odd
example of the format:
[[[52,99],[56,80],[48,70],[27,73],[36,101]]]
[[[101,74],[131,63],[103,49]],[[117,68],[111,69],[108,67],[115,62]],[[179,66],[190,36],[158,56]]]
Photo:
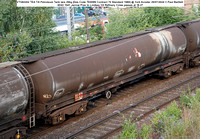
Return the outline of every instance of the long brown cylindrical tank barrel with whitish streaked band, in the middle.
[[[24,66],[32,74],[36,102],[46,103],[179,56],[185,49],[184,33],[177,27],[170,27],[44,58]]]

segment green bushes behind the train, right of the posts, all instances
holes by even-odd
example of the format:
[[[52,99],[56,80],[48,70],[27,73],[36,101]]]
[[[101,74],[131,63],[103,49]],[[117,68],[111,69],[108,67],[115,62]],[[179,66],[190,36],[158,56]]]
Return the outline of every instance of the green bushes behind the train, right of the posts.
[[[183,16],[184,14],[186,14],[185,10],[172,7],[111,10],[109,24],[106,26],[105,38],[173,24],[183,20],[191,20],[198,17],[194,15],[194,13],[189,13],[190,16]]]

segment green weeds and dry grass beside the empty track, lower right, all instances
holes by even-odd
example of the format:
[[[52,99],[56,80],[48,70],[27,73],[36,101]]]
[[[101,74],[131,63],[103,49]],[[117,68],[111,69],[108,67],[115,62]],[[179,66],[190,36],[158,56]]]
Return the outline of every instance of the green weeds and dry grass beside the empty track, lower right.
[[[151,117],[151,124],[144,124],[141,129],[131,118],[124,118],[120,138],[200,138],[200,89],[181,95],[180,106],[174,101],[166,110],[157,111]]]

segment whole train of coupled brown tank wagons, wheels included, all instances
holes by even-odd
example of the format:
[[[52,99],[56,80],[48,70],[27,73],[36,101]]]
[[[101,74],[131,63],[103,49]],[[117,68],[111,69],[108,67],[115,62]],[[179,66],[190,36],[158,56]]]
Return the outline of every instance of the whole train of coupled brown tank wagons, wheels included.
[[[58,124],[91,97],[150,73],[169,77],[200,63],[200,19],[166,25],[0,64],[0,138],[21,123]]]

